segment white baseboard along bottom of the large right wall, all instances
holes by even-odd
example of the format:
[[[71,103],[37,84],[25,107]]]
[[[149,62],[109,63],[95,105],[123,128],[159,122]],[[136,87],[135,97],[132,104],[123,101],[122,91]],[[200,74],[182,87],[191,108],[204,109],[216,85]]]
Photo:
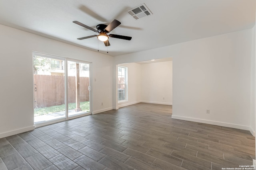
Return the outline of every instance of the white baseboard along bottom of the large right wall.
[[[180,120],[186,120],[186,121],[194,121],[194,122],[199,122],[199,123],[206,123],[206,124],[211,124],[211,125],[217,125],[217,126],[223,126],[223,127],[231,127],[235,129],[243,129],[243,130],[250,130],[249,126],[244,126],[244,125],[236,125],[236,124],[231,124],[231,123],[225,123],[225,122],[219,122],[219,121],[210,121],[210,120],[205,120],[205,119],[196,119],[192,117],[184,117],[184,116],[176,116],[172,115],[172,119],[180,119]]]

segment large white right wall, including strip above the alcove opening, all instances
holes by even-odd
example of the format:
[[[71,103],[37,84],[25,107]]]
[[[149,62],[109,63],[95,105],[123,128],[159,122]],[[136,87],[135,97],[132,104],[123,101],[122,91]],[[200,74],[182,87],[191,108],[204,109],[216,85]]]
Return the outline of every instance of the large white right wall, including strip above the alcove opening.
[[[173,118],[250,130],[251,43],[247,29],[121,55],[114,63],[173,57]]]

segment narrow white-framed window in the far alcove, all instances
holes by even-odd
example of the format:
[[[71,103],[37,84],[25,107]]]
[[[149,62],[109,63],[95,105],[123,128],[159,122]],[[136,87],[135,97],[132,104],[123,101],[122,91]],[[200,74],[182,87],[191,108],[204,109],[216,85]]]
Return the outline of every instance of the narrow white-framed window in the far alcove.
[[[118,102],[127,100],[127,67],[118,66]]]

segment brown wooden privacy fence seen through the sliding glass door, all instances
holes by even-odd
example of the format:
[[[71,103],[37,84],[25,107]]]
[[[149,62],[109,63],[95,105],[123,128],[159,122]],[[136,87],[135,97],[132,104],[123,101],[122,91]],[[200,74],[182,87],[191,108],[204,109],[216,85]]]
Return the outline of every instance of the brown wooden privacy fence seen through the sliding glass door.
[[[65,103],[65,76],[34,75],[35,108]],[[89,77],[80,77],[80,102],[89,101]],[[76,77],[68,76],[68,103],[76,102]]]

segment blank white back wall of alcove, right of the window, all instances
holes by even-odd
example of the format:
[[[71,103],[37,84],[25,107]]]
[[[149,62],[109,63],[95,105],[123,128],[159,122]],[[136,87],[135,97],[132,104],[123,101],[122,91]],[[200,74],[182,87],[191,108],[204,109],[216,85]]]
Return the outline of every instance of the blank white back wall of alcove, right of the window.
[[[141,64],[141,100],[172,105],[172,61]]]

